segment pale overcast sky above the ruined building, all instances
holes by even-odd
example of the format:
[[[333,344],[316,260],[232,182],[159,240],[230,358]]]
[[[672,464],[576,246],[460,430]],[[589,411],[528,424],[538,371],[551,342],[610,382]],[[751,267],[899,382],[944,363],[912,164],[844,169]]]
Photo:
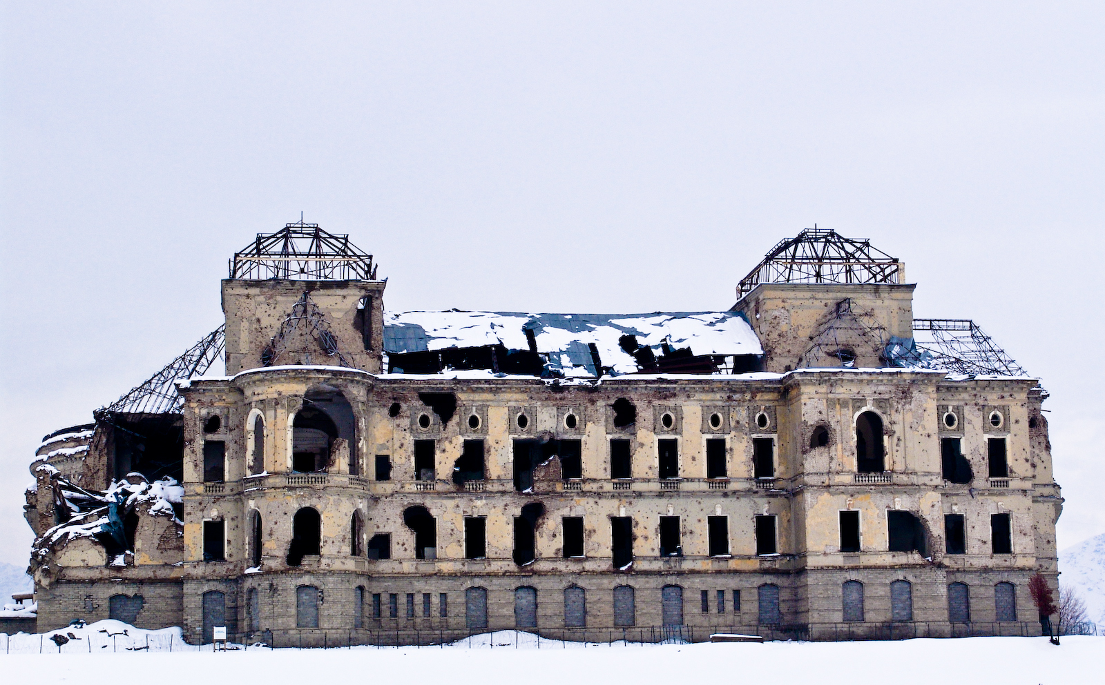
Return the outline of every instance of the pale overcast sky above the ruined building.
[[[1105,532],[1099,1],[2,7],[0,560],[42,436],[299,212],[394,310],[727,309],[779,239],[870,237],[1042,378],[1060,545]]]

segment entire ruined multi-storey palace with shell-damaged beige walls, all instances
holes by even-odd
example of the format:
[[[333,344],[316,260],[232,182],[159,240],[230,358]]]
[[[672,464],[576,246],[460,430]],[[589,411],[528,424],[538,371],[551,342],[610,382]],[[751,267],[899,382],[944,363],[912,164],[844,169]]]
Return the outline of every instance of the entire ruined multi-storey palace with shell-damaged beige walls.
[[[48,436],[39,629],[1040,633],[1046,393],[974,322],[914,319],[867,240],[783,240],[724,311],[391,312],[386,285],[348,236],[257,235],[223,327]]]

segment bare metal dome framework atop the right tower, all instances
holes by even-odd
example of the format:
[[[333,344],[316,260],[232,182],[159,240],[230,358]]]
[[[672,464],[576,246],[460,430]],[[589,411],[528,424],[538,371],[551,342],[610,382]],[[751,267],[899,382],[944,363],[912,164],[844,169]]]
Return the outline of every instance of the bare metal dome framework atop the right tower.
[[[740,280],[737,298],[760,283],[897,283],[902,271],[896,257],[872,247],[867,238],[808,228],[772,247]]]

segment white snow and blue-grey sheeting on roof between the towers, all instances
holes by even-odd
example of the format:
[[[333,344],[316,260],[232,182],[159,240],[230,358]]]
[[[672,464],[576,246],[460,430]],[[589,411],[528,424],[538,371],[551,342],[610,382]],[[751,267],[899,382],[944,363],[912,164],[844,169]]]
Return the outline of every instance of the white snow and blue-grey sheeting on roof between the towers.
[[[383,350],[389,354],[433,352],[450,347],[503,345],[529,350],[533,331],[537,351],[565,367],[591,363],[593,343],[603,366],[635,373],[636,361],[619,342],[635,335],[638,344],[661,350],[690,347],[694,355],[764,354],[759,339],[736,312],[654,312],[651,314],[533,314],[483,311],[408,311],[385,314]]]

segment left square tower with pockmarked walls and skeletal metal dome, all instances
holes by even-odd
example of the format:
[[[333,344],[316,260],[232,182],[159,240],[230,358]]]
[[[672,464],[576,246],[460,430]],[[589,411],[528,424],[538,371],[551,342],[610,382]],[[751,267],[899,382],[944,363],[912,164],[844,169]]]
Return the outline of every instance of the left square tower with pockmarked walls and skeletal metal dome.
[[[386,285],[346,234],[302,222],[259,233],[222,281],[227,374],[283,365],[379,373]]]

